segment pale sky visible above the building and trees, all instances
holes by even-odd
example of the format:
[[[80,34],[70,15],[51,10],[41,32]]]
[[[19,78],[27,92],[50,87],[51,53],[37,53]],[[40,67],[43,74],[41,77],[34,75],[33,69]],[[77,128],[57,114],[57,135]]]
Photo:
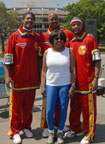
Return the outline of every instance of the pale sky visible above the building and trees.
[[[75,3],[78,1],[79,0],[51,0],[51,6],[63,8],[67,3]],[[4,2],[7,8],[13,8],[13,0],[0,0],[0,2]]]

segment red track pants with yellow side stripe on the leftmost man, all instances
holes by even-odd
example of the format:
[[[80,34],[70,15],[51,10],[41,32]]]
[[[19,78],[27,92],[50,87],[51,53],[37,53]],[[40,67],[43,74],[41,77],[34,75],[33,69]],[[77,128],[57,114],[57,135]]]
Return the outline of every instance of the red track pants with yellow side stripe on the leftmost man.
[[[35,90],[11,92],[9,136],[13,136],[23,129],[31,129],[34,100]]]

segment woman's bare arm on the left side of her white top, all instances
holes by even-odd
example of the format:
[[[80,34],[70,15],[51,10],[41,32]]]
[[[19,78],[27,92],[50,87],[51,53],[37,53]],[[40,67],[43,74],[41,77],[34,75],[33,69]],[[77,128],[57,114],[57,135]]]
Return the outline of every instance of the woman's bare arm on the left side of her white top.
[[[47,66],[46,66],[46,55],[47,50],[45,51],[43,55],[43,64],[42,64],[42,71],[41,71],[41,94],[45,96],[46,94],[46,72],[47,72]]]

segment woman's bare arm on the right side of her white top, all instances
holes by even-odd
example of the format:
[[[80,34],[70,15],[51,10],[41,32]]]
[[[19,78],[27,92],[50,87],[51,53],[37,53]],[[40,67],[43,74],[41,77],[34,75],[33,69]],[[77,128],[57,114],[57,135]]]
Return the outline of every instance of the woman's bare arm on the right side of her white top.
[[[75,84],[76,84],[76,62],[73,52],[70,50],[70,72],[71,72],[71,87],[69,89],[69,98],[74,94]]]

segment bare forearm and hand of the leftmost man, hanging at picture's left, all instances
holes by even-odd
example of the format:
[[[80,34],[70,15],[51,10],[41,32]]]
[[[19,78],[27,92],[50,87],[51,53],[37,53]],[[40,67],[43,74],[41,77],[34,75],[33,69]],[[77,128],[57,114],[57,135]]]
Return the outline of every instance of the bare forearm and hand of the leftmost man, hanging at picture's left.
[[[10,65],[9,64],[5,64],[4,65],[4,70],[5,70],[5,83],[6,83],[6,86],[8,88],[11,88],[10,86],[10,83],[12,84],[12,79],[9,75],[9,69],[10,69]]]

